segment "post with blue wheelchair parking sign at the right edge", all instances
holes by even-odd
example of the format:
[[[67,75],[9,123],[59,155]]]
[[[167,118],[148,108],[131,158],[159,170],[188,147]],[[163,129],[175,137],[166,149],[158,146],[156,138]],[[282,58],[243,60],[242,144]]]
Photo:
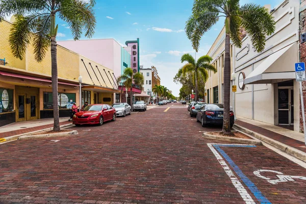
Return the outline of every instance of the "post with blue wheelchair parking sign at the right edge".
[[[299,82],[300,96],[301,96],[301,109],[302,109],[302,117],[303,117],[303,130],[304,130],[304,139],[305,139],[305,146],[306,146],[305,110],[304,110],[303,89],[302,89],[302,81],[306,80],[304,62],[295,63],[295,80]]]

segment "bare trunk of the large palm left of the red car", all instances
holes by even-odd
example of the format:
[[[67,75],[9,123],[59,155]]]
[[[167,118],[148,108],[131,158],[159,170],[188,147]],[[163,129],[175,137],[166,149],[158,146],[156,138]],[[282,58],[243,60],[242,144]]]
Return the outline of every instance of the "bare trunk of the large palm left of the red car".
[[[56,37],[51,37],[51,75],[52,75],[53,118],[54,118],[53,131],[60,131]]]

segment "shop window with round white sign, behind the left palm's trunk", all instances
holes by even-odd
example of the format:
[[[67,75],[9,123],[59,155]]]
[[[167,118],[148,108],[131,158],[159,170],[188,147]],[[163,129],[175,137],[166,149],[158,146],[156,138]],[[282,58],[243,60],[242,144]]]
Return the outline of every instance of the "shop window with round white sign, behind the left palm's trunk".
[[[69,109],[75,101],[75,93],[59,93],[58,106],[60,109]],[[43,93],[43,109],[53,109],[52,92]]]

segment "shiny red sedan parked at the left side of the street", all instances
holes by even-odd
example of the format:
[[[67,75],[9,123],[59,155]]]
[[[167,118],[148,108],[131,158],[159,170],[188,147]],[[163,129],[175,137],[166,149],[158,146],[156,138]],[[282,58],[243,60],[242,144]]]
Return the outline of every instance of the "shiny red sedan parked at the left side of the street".
[[[92,104],[73,115],[72,123],[75,126],[81,124],[99,124],[105,121],[116,120],[116,110],[108,104]]]

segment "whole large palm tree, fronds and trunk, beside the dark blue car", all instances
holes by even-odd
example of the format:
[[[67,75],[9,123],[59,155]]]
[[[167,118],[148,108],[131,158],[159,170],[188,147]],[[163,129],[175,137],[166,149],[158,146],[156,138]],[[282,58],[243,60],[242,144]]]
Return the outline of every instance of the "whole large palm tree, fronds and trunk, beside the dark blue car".
[[[256,4],[239,5],[239,0],[197,0],[193,4],[192,15],[186,22],[186,34],[197,51],[201,37],[225,17],[225,57],[224,57],[224,114],[223,134],[231,134],[230,93],[231,58],[230,40],[241,47],[243,29],[250,37],[257,52],[262,52],[266,36],[275,31],[275,21],[269,10]]]

